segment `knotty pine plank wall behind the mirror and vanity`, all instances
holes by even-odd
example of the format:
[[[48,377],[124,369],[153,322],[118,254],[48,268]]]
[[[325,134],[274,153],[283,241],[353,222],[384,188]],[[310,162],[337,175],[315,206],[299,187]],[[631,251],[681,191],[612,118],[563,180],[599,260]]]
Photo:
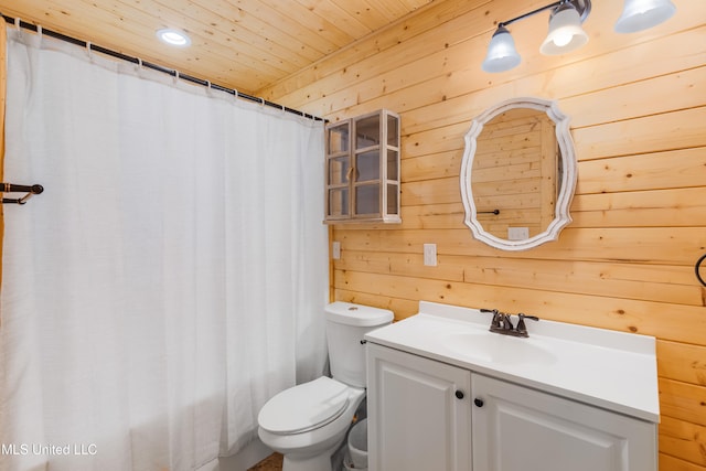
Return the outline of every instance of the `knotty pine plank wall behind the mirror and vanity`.
[[[402,115],[403,224],[331,228],[333,298],[397,319],[430,300],[655,335],[660,469],[704,471],[706,289],[694,264],[706,253],[706,2],[673,2],[667,23],[619,35],[622,2],[595,1],[590,42],[559,57],[538,53],[546,15],[515,23],[523,62],[490,75],[494,24],[546,2],[436,1],[259,95],[333,121]],[[462,223],[462,136],[492,104],[526,95],[571,117],[574,222],[556,243],[504,253]],[[437,267],[422,265],[424,243],[437,244]]]

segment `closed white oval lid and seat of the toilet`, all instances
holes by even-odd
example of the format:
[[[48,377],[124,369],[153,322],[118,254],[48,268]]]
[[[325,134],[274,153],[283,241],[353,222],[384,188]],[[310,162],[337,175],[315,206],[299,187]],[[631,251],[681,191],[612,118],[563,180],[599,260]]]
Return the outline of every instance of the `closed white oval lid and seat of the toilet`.
[[[349,396],[347,385],[322,376],[277,394],[257,420],[271,433],[302,433],[335,420],[347,407]]]

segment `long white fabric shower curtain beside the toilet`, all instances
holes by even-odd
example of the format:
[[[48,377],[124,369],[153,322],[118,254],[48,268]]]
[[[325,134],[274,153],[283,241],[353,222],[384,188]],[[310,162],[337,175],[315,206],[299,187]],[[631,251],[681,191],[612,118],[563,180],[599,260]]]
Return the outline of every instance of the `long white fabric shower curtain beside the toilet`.
[[[0,470],[216,470],[325,363],[323,126],[8,33]]]

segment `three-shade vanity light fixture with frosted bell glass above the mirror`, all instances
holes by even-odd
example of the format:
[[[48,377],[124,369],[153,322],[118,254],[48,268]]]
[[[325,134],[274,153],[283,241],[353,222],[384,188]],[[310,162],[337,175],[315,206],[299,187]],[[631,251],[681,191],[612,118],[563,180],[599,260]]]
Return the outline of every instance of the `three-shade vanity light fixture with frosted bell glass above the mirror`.
[[[507,25],[552,10],[549,32],[539,47],[545,55],[559,55],[575,51],[588,42],[588,34],[581,28],[591,12],[590,0],[559,0],[528,13],[498,23],[488,46],[482,68],[485,72],[505,72],[520,64],[521,58]],[[625,0],[622,14],[616,22],[616,32],[633,33],[657,25],[668,20],[676,7],[671,0]]]

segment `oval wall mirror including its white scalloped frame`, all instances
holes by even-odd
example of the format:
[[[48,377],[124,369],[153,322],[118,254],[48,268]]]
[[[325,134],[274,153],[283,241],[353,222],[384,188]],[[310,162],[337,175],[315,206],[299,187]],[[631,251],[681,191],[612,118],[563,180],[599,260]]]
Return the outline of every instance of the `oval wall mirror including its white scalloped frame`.
[[[571,222],[576,178],[569,119],[556,101],[503,101],[477,117],[466,133],[466,225],[477,239],[504,250],[556,240]]]

